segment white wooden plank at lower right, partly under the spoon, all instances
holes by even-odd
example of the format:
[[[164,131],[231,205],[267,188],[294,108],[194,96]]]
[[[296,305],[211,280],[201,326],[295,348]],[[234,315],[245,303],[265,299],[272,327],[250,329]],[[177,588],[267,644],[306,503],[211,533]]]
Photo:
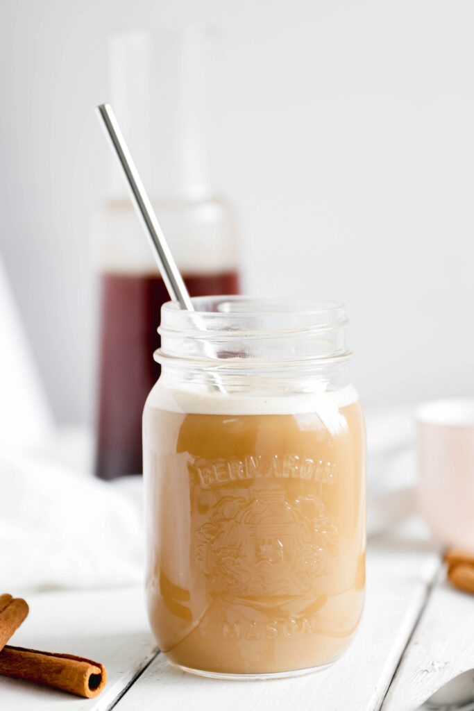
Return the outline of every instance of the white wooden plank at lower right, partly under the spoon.
[[[442,578],[444,575],[442,575]],[[441,685],[474,668],[474,597],[436,585],[394,677],[383,711],[412,711]]]

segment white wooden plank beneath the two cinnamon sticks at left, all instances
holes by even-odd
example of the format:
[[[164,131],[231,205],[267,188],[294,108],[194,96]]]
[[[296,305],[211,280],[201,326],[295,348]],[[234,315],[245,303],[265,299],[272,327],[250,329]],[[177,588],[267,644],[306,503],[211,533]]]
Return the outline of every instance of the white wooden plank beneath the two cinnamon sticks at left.
[[[102,662],[107,685],[96,699],[0,676],[8,711],[105,711],[156,655],[139,589],[48,592],[26,596],[30,614],[11,643]]]

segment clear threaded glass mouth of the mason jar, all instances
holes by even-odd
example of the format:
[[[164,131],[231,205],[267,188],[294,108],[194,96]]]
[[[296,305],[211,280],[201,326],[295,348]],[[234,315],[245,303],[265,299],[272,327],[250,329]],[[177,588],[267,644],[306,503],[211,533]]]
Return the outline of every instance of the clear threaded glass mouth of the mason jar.
[[[295,362],[350,355],[347,314],[338,301],[254,296],[198,296],[191,301],[194,311],[181,309],[176,301],[161,307],[159,360]]]

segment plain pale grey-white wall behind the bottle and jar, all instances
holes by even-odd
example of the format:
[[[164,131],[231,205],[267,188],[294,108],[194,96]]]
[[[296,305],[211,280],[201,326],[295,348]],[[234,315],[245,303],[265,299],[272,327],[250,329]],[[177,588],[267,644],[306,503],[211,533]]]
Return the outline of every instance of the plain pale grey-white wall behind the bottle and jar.
[[[244,287],[345,301],[369,405],[473,394],[474,3],[0,0],[0,253],[58,419],[92,417],[109,33],[222,31]]]

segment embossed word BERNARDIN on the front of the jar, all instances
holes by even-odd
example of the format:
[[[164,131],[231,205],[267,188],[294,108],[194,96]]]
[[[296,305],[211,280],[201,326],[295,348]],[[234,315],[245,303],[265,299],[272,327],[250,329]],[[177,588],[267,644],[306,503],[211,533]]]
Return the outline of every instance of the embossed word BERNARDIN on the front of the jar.
[[[189,465],[198,474],[203,488],[242,479],[306,479],[333,483],[335,464],[323,459],[302,458],[298,454],[261,456],[252,454],[243,459],[196,459]]]

